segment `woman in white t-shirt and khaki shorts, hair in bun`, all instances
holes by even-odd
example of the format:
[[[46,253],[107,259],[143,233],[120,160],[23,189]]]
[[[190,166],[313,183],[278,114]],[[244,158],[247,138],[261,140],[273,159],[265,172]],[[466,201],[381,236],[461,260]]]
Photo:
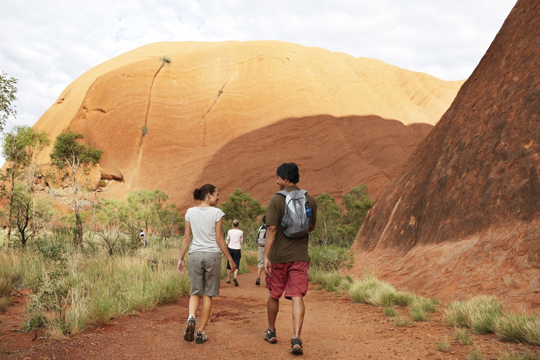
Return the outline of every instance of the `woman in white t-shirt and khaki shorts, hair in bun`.
[[[200,200],[199,206],[187,209],[186,230],[184,241],[178,259],[178,272],[184,274],[184,255],[190,244],[191,234],[193,241],[190,246],[188,273],[191,281],[190,315],[187,318],[184,340],[193,341],[195,332],[195,313],[199,308],[201,297],[203,307],[200,313],[200,327],[195,337],[195,343],[202,344],[208,339],[206,323],[212,309],[212,296],[219,296],[219,282],[221,280],[221,252],[236,270],[231,254],[223,240],[223,216],[221,209],[216,208],[219,200],[218,189],[210,184],[203,185],[193,191],[193,199]]]

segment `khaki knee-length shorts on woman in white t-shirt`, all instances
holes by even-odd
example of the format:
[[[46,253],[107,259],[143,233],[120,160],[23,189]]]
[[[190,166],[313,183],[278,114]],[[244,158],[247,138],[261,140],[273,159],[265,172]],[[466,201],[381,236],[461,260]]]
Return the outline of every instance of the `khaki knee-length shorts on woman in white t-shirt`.
[[[193,252],[188,260],[191,295],[219,296],[221,253]]]

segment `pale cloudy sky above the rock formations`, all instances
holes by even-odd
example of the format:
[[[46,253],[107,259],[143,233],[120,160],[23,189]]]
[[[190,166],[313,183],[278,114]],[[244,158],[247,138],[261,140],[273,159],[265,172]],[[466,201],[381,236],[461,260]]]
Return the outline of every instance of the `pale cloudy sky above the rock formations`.
[[[32,125],[80,74],[160,41],[266,40],[467,78],[515,0],[0,0],[0,72]]]

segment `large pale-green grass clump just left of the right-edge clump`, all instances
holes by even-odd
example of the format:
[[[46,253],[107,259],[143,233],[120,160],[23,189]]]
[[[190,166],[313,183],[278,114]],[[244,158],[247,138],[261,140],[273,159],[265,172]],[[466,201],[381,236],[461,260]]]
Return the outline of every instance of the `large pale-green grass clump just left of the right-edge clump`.
[[[481,294],[469,301],[448,304],[446,319],[450,325],[468,328],[474,334],[494,331],[495,320],[502,315],[503,304],[496,296]]]

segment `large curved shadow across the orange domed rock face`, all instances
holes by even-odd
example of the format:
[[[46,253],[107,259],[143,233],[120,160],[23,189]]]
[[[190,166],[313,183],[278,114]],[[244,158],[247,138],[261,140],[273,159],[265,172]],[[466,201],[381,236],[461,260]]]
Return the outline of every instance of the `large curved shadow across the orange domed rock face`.
[[[277,191],[278,166],[296,162],[299,185],[314,196],[341,195],[363,182],[376,198],[431,128],[408,127],[378,116],[284,119],[228,142],[208,162],[198,182],[215,184],[222,194],[242,188],[266,204]]]

